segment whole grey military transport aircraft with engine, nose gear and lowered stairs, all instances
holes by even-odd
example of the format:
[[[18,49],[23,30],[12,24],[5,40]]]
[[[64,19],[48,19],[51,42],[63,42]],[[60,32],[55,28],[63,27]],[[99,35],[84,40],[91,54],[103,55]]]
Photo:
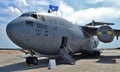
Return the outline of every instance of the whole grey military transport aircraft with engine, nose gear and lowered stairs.
[[[95,27],[100,25],[100,27]],[[51,13],[27,12],[11,21],[6,32],[18,46],[29,50],[26,64],[38,64],[34,51],[44,55],[60,55],[66,62],[75,64],[75,53],[99,56],[99,41],[110,43],[120,30],[112,29],[113,23],[95,22],[80,26]],[[95,38],[96,36],[97,38]]]

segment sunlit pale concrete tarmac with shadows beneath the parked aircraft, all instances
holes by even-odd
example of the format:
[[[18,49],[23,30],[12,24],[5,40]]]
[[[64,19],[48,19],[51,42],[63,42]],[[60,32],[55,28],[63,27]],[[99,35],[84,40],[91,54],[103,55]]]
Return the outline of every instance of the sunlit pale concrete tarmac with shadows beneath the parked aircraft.
[[[57,66],[48,69],[49,59],[40,57],[36,66],[25,65],[22,52],[0,51],[0,72],[120,72],[120,50],[103,50],[100,57],[76,55],[75,65],[69,65],[55,57]]]

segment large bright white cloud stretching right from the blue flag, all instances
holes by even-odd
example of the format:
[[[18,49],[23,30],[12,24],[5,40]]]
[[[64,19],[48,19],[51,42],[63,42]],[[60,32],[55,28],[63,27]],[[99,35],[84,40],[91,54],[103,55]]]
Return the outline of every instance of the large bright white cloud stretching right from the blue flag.
[[[120,18],[120,10],[116,7],[87,8],[75,11],[73,7],[63,1],[60,2],[59,7],[58,15],[81,25],[85,25],[92,20],[106,22],[110,19]]]

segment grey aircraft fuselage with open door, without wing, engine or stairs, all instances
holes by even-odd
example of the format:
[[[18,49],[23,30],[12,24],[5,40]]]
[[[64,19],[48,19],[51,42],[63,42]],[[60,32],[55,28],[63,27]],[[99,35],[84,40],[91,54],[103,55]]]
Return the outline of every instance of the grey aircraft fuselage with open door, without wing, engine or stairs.
[[[25,13],[11,21],[6,32],[21,48],[46,55],[56,55],[63,47],[77,53],[98,46],[98,41],[86,36],[81,26],[47,13]]]

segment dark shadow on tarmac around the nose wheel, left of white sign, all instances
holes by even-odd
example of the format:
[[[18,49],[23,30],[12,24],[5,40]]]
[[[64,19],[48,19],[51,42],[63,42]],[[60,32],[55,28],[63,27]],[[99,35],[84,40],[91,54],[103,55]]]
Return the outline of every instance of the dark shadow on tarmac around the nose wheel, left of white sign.
[[[37,69],[37,68],[44,68],[48,66],[48,59],[41,59],[39,60],[39,64],[35,66],[27,66],[25,65],[25,62],[19,62],[15,64],[10,64],[6,65],[3,67],[0,67],[0,72],[17,72],[17,71],[22,71],[24,70],[32,70],[32,69]]]

